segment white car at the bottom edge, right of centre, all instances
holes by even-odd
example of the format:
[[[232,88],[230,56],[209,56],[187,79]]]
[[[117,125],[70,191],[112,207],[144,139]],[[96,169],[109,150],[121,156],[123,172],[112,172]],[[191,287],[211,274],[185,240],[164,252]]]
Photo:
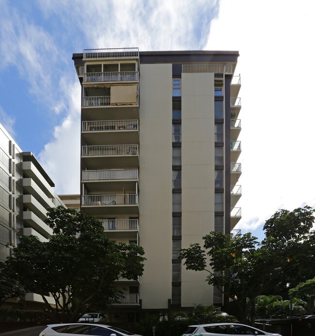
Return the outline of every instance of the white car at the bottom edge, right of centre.
[[[182,336],[222,336],[222,335],[268,335],[281,336],[272,334],[267,331],[250,327],[249,325],[239,323],[210,323],[189,325],[187,331]]]

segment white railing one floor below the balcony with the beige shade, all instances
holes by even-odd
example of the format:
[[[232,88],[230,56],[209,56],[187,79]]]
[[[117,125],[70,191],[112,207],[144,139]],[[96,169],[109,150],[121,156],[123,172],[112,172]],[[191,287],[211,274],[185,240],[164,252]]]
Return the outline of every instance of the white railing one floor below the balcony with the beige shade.
[[[138,120],[82,121],[82,131],[138,130]]]

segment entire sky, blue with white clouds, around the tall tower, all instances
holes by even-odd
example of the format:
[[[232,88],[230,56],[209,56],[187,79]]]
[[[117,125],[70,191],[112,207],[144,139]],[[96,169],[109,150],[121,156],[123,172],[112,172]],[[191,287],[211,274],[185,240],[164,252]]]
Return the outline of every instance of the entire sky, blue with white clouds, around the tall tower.
[[[315,208],[315,1],[0,0],[0,123],[59,194],[79,193],[87,48],[238,50],[242,219],[263,238],[279,208]]]

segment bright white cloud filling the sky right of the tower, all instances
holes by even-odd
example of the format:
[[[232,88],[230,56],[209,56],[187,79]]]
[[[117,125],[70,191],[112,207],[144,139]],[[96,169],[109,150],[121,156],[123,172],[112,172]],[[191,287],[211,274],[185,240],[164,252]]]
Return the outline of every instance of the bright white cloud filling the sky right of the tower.
[[[239,50],[242,207],[238,228],[278,208],[315,207],[314,1],[221,0],[205,49]],[[254,220],[253,220],[254,219]]]

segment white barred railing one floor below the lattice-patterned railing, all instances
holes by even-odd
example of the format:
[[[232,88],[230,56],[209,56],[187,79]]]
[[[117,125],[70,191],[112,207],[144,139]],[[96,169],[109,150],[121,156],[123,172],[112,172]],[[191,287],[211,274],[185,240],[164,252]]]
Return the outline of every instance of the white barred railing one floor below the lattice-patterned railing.
[[[134,193],[110,195],[82,195],[82,205],[84,206],[136,204],[138,204],[138,195]]]

